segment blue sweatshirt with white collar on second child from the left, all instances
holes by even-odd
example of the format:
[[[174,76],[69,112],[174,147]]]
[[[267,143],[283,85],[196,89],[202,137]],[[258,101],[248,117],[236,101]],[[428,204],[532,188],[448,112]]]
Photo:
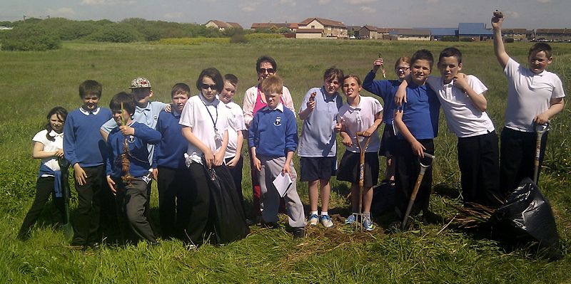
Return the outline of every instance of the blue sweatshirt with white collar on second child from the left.
[[[111,110],[98,107],[94,112],[74,110],[64,125],[64,156],[73,166],[95,167],[105,163],[107,146],[99,127],[111,118]]]

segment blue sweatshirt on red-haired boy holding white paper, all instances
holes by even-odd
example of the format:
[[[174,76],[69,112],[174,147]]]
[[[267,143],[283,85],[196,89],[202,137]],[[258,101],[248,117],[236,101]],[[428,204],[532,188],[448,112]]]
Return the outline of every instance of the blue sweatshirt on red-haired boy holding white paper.
[[[256,147],[256,154],[271,158],[286,157],[298,147],[298,123],[295,115],[280,103],[270,110],[256,112],[248,130],[248,146]]]

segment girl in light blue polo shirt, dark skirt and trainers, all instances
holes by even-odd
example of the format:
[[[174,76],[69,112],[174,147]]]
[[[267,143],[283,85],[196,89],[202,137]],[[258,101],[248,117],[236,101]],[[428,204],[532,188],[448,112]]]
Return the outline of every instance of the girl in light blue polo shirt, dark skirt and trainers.
[[[331,187],[329,179],[337,172],[337,143],[335,117],[343,105],[338,93],[343,71],[331,67],[323,74],[323,86],[311,88],[301,103],[299,117],[303,120],[299,140],[300,181],[308,182],[311,226],[321,222],[325,228],[333,227],[328,214]],[[318,183],[321,194],[321,214],[318,215]]]

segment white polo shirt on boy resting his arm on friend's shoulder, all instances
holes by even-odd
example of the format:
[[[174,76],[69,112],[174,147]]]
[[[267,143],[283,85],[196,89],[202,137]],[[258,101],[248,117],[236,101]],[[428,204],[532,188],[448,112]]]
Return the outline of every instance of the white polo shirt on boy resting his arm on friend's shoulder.
[[[466,80],[475,93],[483,94],[487,91],[484,83],[475,76],[468,75]],[[473,137],[494,130],[494,124],[487,113],[478,110],[470,97],[455,87],[453,82],[445,84],[442,78],[434,76],[429,76],[426,82],[438,95],[448,129],[457,137]]]

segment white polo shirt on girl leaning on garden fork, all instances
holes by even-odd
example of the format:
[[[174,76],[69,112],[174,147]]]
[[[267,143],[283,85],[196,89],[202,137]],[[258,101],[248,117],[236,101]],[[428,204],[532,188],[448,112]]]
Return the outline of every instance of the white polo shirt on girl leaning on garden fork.
[[[371,125],[375,122],[375,116],[383,111],[383,106],[380,102],[372,97],[360,96],[359,105],[356,107],[350,106],[345,103],[339,109],[338,120],[343,120],[343,125],[345,125],[345,131],[351,137],[353,141],[353,147],[347,148],[350,152],[359,152],[357,147],[357,132],[363,132],[368,130]],[[375,130],[373,135],[370,137],[369,146],[365,152],[378,152],[380,147],[380,139],[378,134],[378,128]]]

